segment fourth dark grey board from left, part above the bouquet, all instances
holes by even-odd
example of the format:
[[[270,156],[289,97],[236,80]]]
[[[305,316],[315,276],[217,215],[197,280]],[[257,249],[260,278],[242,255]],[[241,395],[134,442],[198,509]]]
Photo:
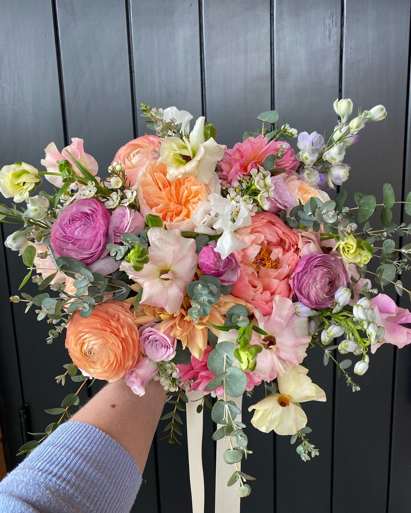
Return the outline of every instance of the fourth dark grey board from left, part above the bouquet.
[[[232,148],[271,108],[270,2],[204,2],[207,119]]]

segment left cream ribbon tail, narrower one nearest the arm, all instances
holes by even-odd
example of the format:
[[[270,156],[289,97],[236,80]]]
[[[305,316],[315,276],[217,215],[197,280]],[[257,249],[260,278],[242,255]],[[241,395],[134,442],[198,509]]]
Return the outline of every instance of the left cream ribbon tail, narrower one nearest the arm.
[[[202,390],[187,392],[189,402],[186,404],[187,443],[189,448],[189,469],[191,502],[193,513],[204,513],[204,475],[202,470],[202,420],[203,410],[197,413]]]

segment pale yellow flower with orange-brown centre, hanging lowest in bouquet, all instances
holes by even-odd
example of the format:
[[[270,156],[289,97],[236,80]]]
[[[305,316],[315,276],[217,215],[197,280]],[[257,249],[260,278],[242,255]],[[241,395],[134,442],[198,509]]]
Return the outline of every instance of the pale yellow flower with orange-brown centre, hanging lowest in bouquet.
[[[249,411],[255,410],[251,424],[264,433],[275,431],[277,435],[295,435],[305,427],[307,416],[293,403],[326,400],[324,390],[311,382],[307,372],[301,365],[288,365],[284,376],[277,376],[280,393],[249,407]]]

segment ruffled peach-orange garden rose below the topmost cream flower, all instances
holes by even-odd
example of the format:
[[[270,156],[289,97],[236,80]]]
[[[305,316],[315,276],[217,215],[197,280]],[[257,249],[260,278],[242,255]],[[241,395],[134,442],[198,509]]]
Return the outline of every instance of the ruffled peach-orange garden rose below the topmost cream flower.
[[[167,229],[194,230],[192,215],[207,199],[209,187],[197,183],[194,176],[170,182],[166,174],[167,166],[159,162],[147,162],[141,170],[137,180],[140,212],[159,215]]]

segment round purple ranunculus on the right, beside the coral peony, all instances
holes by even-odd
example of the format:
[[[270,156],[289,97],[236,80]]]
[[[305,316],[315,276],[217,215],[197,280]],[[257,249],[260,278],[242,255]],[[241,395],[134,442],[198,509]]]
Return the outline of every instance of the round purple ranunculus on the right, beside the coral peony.
[[[348,274],[339,257],[309,253],[298,262],[290,286],[297,298],[310,308],[328,308],[341,286],[348,287]]]

